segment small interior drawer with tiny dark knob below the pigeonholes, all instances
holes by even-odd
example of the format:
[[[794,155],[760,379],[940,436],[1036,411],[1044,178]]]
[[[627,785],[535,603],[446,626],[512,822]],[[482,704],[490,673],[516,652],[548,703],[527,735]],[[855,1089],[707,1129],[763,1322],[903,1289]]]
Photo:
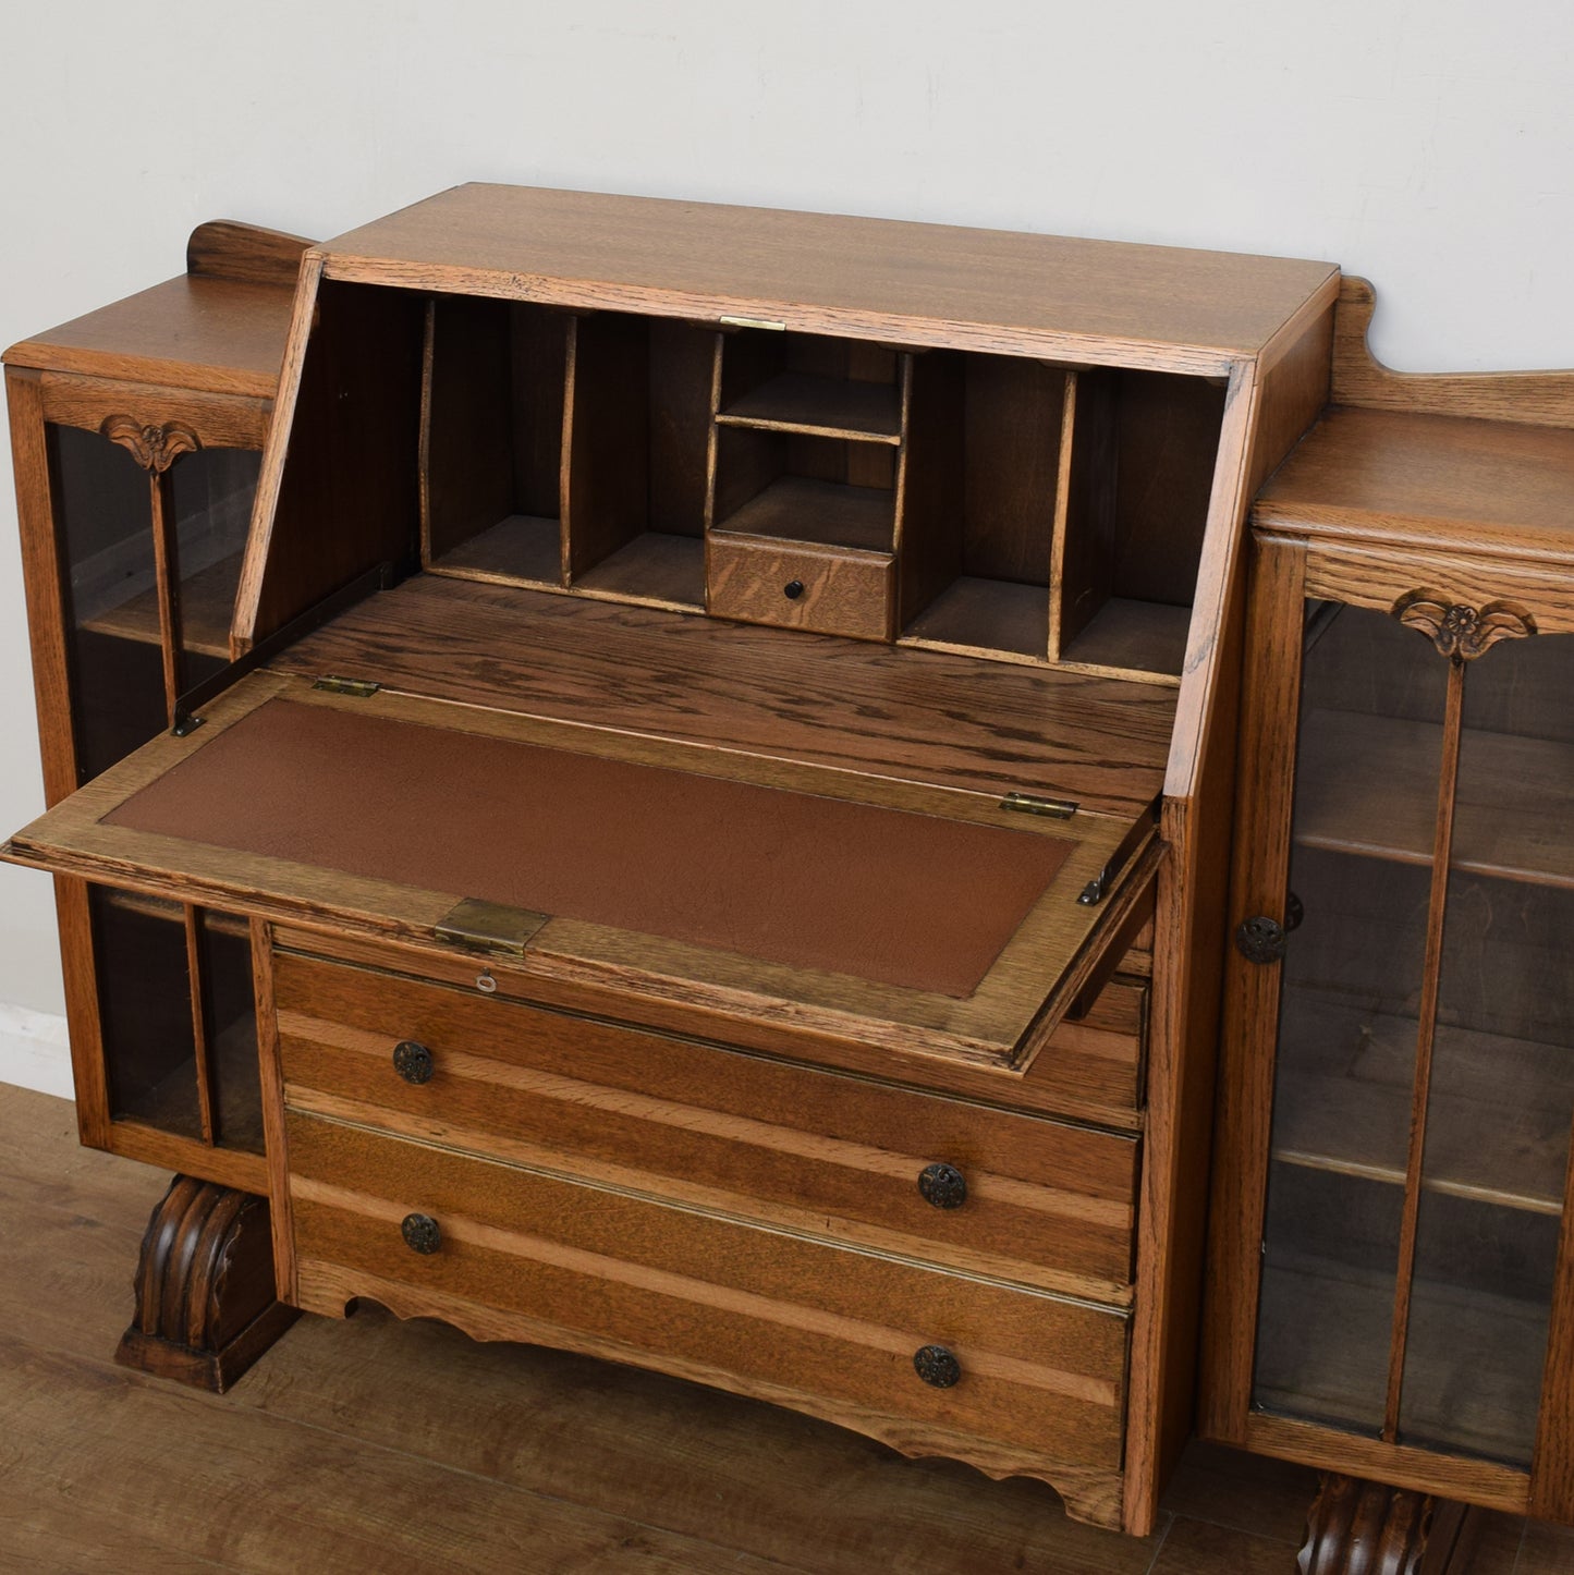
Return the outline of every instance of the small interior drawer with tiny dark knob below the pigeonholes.
[[[889,639],[895,567],[890,553],[785,545],[767,537],[711,534],[715,617]]]

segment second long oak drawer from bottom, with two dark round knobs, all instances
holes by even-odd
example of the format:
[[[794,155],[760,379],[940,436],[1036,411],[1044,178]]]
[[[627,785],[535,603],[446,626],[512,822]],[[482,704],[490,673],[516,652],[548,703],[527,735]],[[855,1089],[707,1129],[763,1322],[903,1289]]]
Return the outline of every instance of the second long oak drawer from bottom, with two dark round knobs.
[[[298,1109],[1125,1299],[1131,1137],[293,953],[274,999]]]

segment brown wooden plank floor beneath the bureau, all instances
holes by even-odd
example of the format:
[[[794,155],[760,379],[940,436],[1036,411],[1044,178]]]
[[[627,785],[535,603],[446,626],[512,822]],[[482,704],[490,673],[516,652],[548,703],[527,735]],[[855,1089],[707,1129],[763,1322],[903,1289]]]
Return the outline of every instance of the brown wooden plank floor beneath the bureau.
[[[0,1570],[1290,1575],[1309,1473],[1193,1446],[1145,1540],[674,1380],[369,1307],[224,1397],[115,1367],[165,1177],[0,1085]],[[1481,1575],[1574,1572],[1490,1517]]]

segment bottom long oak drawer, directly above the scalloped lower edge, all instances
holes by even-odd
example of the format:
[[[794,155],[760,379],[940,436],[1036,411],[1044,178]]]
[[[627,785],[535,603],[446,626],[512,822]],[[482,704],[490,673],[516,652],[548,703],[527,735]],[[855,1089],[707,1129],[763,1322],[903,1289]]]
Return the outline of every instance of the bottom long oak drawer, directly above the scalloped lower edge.
[[[291,1112],[299,1301],[366,1295],[769,1394],[1079,1465],[1120,1463],[1127,1320]],[[421,1216],[408,1225],[408,1216]],[[960,1381],[920,1378],[925,1347]],[[931,1377],[952,1377],[944,1358]]]

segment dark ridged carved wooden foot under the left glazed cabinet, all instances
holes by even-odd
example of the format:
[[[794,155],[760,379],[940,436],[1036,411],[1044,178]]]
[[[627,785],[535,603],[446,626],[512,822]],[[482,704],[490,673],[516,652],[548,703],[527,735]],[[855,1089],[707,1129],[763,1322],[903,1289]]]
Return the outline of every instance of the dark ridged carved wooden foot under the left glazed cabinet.
[[[192,1177],[153,1210],[135,1290],[115,1361],[216,1394],[299,1317],[274,1296],[268,1200]]]

